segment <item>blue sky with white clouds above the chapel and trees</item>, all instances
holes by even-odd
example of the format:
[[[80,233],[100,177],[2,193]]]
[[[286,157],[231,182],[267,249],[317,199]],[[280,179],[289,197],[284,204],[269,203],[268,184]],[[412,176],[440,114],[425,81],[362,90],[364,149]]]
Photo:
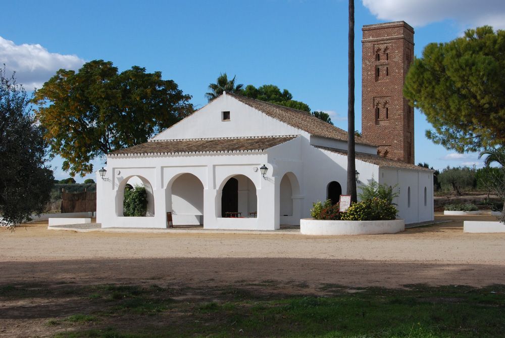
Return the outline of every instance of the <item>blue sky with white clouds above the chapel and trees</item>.
[[[505,29],[503,0],[355,0],[356,127],[361,130],[361,27],[403,20],[415,29],[415,54],[484,24]],[[16,71],[27,91],[60,68],[78,70],[91,60],[161,71],[196,108],[220,73],[244,85],[274,84],[313,111],[328,112],[347,129],[347,1],[12,1],[2,5],[0,64]],[[10,13],[5,15],[5,13]],[[435,169],[482,167],[477,154],[457,154],[425,137],[430,129],[415,112],[415,161]],[[69,177],[62,160],[55,178]],[[103,160],[93,162],[95,169]],[[95,178],[94,174],[84,178]]]

